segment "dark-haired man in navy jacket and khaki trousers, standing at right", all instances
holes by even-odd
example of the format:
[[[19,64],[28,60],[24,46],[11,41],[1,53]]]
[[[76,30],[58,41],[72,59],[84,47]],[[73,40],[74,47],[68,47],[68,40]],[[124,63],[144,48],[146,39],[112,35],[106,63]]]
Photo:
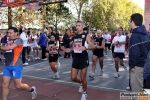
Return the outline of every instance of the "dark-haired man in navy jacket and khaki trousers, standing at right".
[[[142,22],[143,16],[141,14],[131,15],[132,36],[129,42],[129,67],[133,92],[139,92],[143,87],[143,67],[150,47],[149,35]]]

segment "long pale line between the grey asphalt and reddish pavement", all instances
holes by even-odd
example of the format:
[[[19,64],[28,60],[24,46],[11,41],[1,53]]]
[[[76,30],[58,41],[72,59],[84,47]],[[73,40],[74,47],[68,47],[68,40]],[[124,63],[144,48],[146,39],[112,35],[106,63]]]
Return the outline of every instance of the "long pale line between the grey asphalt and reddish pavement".
[[[51,80],[51,81],[54,81],[54,82],[56,82],[56,83],[66,83],[66,84],[79,85],[78,83],[68,82],[68,81],[64,81],[64,80],[54,80],[54,79],[42,78],[42,77],[36,77],[36,76],[29,76],[29,75],[23,75],[23,76],[29,77],[29,78],[35,78],[35,79]],[[107,90],[113,90],[113,91],[119,91],[119,92],[125,92],[125,91],[127,91],[127,90],[114,89],[114,88],[107,88],[107,87],[100,87],[100,86],[93,86],[93,85],[87,85],[87,86],[88,86],[88,87],[92,87],[92,88],[107,89]]]

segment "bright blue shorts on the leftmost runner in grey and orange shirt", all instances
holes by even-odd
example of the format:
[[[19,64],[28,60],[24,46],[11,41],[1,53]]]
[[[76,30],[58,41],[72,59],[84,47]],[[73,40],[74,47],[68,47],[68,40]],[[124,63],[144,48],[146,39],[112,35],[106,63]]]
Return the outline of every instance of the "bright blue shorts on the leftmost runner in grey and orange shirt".
[[[3,76],[13,77],[14,79],[22,78],[22,67],[19,66],[5,66]]]

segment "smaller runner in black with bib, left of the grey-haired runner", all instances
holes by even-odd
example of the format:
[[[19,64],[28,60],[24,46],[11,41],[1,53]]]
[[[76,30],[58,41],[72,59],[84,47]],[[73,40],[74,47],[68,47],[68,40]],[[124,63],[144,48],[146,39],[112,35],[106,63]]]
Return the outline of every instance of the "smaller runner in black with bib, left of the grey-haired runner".
[[[50,67],[52,69],[52,71],[54,72],[54,76],[53,78],[59,78],[59,73],[56,66],[56,62],[58,60],[58,48],[59,48],[59,41],[56,40],[54,35],[50,36],[50,41],[48,42],[47,45],[47,51],[49,51],[49,64]]]

